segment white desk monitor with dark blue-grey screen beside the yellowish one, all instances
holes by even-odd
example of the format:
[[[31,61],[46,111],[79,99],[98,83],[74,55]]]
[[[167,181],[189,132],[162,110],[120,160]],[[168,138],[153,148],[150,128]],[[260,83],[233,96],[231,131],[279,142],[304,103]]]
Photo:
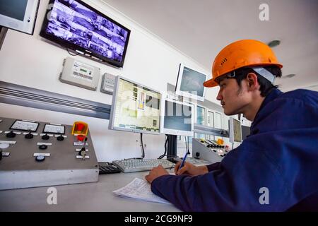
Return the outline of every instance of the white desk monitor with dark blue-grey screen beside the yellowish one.
[[[160,117],[160,133],[177,136],[193,136],[193,105],[162,98]]]

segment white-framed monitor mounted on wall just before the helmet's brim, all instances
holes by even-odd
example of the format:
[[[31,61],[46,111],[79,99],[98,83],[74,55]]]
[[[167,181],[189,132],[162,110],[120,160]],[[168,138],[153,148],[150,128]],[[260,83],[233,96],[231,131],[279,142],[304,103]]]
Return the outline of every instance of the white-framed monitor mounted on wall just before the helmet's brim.
[[[204,101],[206,74],[179,64],[179,73],[175,93],[183,97]]]

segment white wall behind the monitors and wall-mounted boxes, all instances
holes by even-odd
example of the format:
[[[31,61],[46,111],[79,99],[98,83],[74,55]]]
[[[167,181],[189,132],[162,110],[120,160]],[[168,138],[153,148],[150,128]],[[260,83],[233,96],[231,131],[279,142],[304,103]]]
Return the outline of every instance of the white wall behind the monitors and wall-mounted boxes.
[[[71,56],[66,50],[45,42],[39,35],[48,2],[49,0],[40,2],[33,36],[8,30],[0,51],[0,80],[111,105],[112,96],[100,93],[100,83],[98,91],[91,91],[59,81],[62,61]],[[86,0],[85,2],[131,30],[123,69],[116,69],[112,66],[90,61],[90,59],[81,56],[73,57],[100,67],[101,74],[107,72],[121,75],[162,91],[166,90],[167,83],[176,83],[179,63],[187,64],[194,69],[211,74],[210,71],[206,71],[191,58],[178,52],[177,49],[155,37],[146,29],[141,28],[122,13],[115,11],[114,8],[101,1]],[[208,89],[206,98],[216,102],[216,92],[217,89],[215,88]],[[73,121],[78,120],[86,121],[90,128],[99,161],[111,161],[141,155],[139,143],[136,142],[139,141],[139,134],[110,131],[107,129],[108,120],[105,119],[1,103],[0,117],[32,119],[60,124],[73,124]],[[163,135],[145,135],[143,142],[146,143],[146,157],[152,158],[161,155],[164,151],[164,139],[165,136]]]

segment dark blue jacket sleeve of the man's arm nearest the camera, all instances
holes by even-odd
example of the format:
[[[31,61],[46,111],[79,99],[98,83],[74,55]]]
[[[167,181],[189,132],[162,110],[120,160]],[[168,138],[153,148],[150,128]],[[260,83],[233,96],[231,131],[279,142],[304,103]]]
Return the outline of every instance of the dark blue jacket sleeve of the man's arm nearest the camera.
[[[151,190],[184,211],[285,210],[283,197],[287,191],[276,167],[260,152],[237,153],[232,150],[219,163],[220,169],[203,175],[158,177]],[[264,187],[270,192],[268,205],[259,201]]]

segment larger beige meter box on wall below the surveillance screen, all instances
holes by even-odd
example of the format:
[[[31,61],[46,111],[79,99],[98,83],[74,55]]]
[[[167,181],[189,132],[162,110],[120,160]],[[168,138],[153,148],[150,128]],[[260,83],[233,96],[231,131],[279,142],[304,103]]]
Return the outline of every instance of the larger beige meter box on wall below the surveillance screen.
[[[100,81],[100,69],[71,57],[66,57],[59,81],[88,90],[96,90]]]

